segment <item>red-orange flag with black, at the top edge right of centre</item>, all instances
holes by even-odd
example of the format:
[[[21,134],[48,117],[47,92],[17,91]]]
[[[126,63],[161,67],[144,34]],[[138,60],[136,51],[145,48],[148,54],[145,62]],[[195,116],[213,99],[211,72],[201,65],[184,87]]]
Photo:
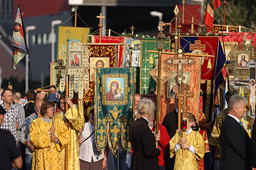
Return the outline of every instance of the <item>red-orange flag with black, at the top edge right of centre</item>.
[[[207,29],[207,33],[211,32],[214,28],[214,10],[221,6],[221,0],[208,0],[205,9],[204,24]]]

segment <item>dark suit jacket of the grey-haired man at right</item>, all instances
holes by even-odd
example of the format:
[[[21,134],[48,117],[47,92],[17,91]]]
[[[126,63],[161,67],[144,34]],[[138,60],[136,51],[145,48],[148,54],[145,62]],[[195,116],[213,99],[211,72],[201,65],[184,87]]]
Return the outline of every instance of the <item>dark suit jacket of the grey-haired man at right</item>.
[[[243,170],[251,168],[251,139],[245,129],[227,116],[221,127],[223,159],[221,169]]]

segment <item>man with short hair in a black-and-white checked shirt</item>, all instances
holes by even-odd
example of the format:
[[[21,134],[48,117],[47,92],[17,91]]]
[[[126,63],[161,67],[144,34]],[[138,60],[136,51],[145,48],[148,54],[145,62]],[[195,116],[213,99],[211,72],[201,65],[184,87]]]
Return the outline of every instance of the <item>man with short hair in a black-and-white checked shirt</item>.
[[[3,103],[0,104],[6,111],[4,115],[3,123],[0,127],[2,130],[9,130],[10,133],[14,136],[16,144],[18,144],[17,137],[17,128],[19,127],[19,123],[21,123],[21,115],[20,110],[16,106],[12,105],[13,103],[13,91],[10,89],[6,89],[2,92],[2,100]]]

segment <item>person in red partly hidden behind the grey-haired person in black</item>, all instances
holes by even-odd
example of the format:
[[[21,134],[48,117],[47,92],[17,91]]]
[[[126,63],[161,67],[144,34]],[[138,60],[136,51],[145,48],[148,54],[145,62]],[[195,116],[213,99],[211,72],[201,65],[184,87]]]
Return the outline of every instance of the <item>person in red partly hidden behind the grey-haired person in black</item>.
[[[156,115],[154,114],[154,117],[152,119],[152,123],[149,125],[151,131],[155,132],[156,129]],[[159,158],[159,169],[160,170],[165,170],[164,167],[164,149],[168,149],[169,148],[169,141],[170,141],[170,137],[167,133],[166,127],[164,127],[162,124],[159,124],[159,130],[160,130],[160,134],[161,134],[161,140],[159,141],[159,148],[161,150],[161,154],[158,157]]]

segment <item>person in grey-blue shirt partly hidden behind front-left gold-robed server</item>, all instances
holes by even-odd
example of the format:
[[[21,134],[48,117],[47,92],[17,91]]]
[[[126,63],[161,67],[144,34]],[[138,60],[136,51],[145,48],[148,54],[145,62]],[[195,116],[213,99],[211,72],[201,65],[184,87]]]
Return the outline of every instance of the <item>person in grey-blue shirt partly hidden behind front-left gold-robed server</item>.
[[[27,170],[32,169],[32,158],[33,158],[33,150],[34,147],[30,143],[30,136],[29,136],[29,131],[31,127],[31,122],[34,121],[36,118],[42,117],[40,114],[40,107],[43,100],[36,100],[35,101],[35,112],[31,115],[29,115],[25,121],[23,122],[22,129],[21,129],[21,134],[20,134],[20,141],[26,146],[25,150],[25,163],[26,163],[26,168]]]

